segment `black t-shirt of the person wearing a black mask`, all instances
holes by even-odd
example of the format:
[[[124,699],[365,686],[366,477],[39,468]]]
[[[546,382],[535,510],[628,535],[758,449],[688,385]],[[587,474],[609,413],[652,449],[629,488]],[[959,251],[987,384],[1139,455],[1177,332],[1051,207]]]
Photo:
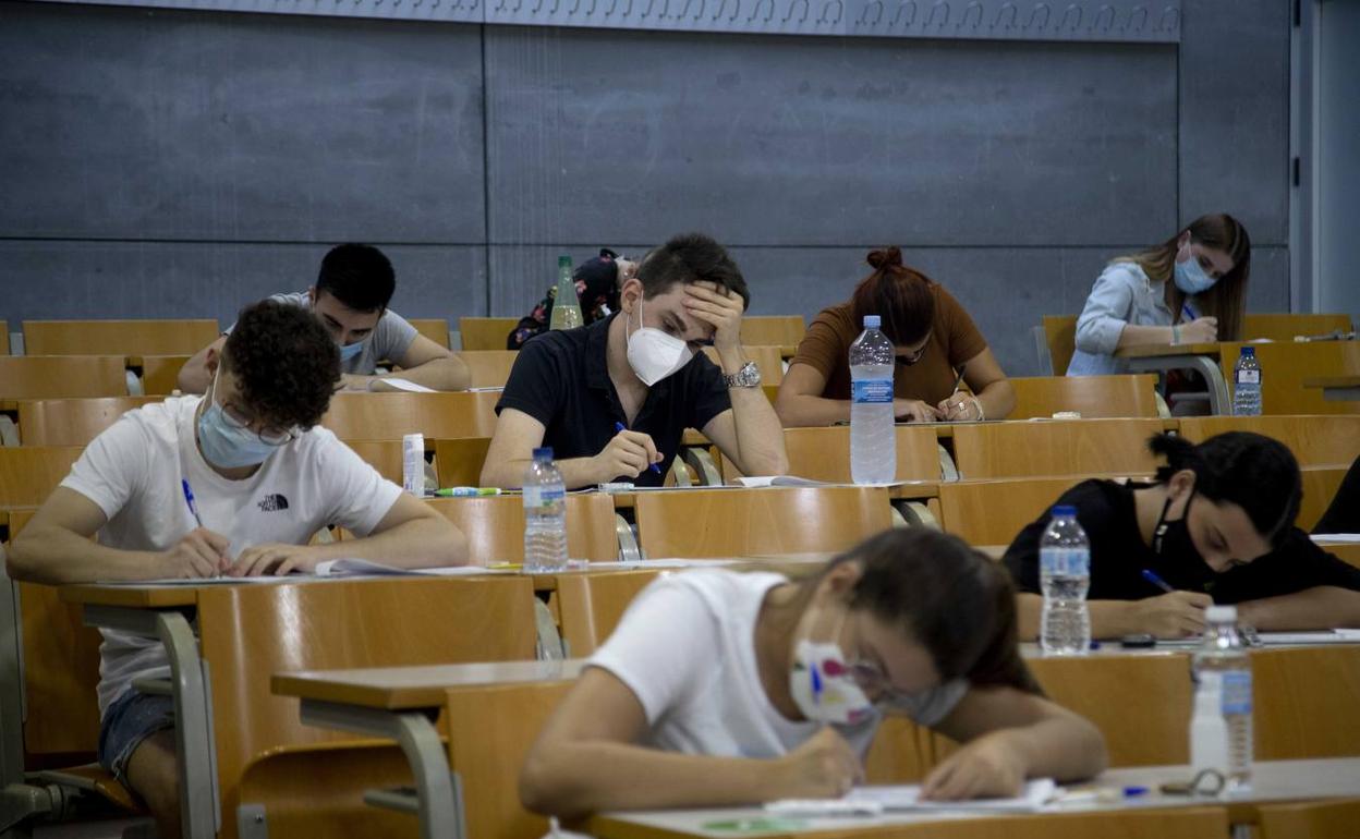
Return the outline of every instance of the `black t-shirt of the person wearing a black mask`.
[[[1198,558],[1159,556],[1138,532],[1133,491],[1144,485],[1087,480],[1054,502],[1077,509],[1077,522],[1091,540],[1091,600],[1142,600],[1163,594],[1142,578],[1144,568],[1174,589],[1206,592],[1220,604],[1293,594],[1314,586],[1360,590],[1360,568],[1327,553],[1297,528],[1291,528],[1270,553],[1223,574],[1214,574]],[[1039,538],[1047,526],[1046,511],[1006,548],[1004,562],[1021,592],[1040,593]]]

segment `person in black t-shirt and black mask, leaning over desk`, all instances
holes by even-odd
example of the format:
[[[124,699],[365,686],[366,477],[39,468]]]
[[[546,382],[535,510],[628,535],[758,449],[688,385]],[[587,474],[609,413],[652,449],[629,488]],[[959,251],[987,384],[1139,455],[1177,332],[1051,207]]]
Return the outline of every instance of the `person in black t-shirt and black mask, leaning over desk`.
[[[1054,502],[1077,509],[1091,540],[1093,638],[1197,635],[1214,602],[1238,604],[1258,630],[1360,626],[1360,568],[1293,525],[1303,490],[1284,443],[1229,431],[1200,445],[1161,434],[1149,446],[1167,460],[1152,483],[1087,480]],[[1005,553],[1023,638],[1039,634],[1047,525],[1047,514],[1027,525]]]

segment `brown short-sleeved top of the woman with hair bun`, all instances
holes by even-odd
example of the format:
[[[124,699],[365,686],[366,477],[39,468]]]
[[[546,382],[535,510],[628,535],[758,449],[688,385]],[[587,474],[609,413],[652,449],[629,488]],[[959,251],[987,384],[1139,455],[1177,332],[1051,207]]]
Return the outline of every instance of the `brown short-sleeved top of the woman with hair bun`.
[[[987,348],[987,340],[978,326],[938,283],[934,325],[930,341],[921,360],[910,367],[898,364],[892,377],[892,392],[899,398],[915,398],[930,405],[953,392],[956,369]],[[864,332],[850,315],[850,303],[823,309],[808,326],[808,335],[798,344],[790,364],[811,364],[827,377],[821,390],[824,398],[850,398],[850,344]]]

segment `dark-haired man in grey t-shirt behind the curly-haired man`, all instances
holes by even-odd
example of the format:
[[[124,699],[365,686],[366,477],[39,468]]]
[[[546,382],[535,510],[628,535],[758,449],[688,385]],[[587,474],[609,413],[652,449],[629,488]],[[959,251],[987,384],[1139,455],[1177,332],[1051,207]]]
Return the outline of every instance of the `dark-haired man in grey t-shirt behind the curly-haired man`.
[[[344,390],[393,390],[385,378],[401,378],[434,390],[465,390],[468,366],[453,352],[416,332],[388,309],[397,277],[392,262],[371,245],[336,245],[321,260],[317,284],[306,291],[276,294],[271,301],[310,310],[340,348],[340,382]],[[212,379],[208,354],[222,345],[235,326],[193,355],[175,383],[184,393],[204,393]],[[378,363],[401,370],[378,375]]]

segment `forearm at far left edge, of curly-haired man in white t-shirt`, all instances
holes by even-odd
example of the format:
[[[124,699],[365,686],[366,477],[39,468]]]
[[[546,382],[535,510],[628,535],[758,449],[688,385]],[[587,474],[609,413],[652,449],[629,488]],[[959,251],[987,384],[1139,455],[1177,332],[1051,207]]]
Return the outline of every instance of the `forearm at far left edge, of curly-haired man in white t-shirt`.
[[[63,528],[30,525],[10,545],[10,577],[53,586],[80,582],[155,579],[162,555],[118,551]]]

